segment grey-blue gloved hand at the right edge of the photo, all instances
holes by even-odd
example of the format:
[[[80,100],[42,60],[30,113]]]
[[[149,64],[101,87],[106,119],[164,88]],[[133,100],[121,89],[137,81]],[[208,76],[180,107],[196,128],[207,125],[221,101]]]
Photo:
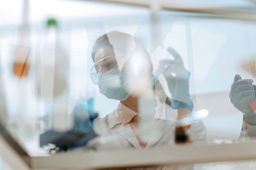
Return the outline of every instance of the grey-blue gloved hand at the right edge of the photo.
[[[256,85],[252,84],[252,79],[241,80],[242,77],[238,74],[234,77],[234,83],[231,85],[229,98],[231,103],[243,113],[246,122],[255,124],[252,122],[254,121],[252,119],[255,119],[256,115],[252,110],[250,103],[256,98]]]

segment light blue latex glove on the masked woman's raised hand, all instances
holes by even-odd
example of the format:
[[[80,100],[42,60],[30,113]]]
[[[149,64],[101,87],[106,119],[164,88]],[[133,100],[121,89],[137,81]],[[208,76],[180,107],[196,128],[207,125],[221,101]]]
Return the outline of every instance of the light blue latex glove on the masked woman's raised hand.
[[[171,107],[189,108],[193,110],[193,103],[189,94],[189,71],[183,65],[182,57],[173,48],[167,48],[174,60],[164,59],[159,61],[156,75],[163,74],[172,95]]]

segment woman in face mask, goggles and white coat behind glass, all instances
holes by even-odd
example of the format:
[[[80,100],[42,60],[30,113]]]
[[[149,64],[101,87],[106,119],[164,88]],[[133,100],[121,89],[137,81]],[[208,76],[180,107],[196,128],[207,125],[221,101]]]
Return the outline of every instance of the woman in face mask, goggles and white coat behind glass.
[[[102,35],[93,46],[92,60],[92,82],[98,84],[101,94],[109,99],[119,100],[120,103],[106,117],[94,120],[93,128],[99,138],[91,141],[90,145],[95,144],[97,148],[136,149],[172,146],[175,145],[175,132],[178,143],[177,132],[180,128],[188,134],[183,142],[206,142],[207,131],[202,121],[176,127],[176,120],[186,117],[193,109],[189,95],[189,73],[181,58],[175,60],[176,63],[172,60],[159,62],[159,69],[156,71],[157,74],[162,73],[168,82],[172,100],[166,96],[156,76],[153,86],[150,86],[149,82],[153,77],[152,62],[142,43],[132,35],[119,31]],[[170,67],[162,70],[162,66]],[[175,70],[177,76],[171,76],[169,73]],[[179,78],[178,75],[183,77]],[[145,95],[144,92],[148,93]],[[154,102],[150,100],[151,92]],[[142,99],[146,102],[141,102],[141,95],[144,95]],[[152,122],[156,126],[151,124],[150,117],[141,116],[141,112],[145,110],[150,115],[152,108],[153,119],[157,120]],[[147,124],[147,120],[149,130],[141,133],[139,129],[142,124]],[[148,133],[150,137],[143,133]],[[183,169],[193,169],[193,166]]]

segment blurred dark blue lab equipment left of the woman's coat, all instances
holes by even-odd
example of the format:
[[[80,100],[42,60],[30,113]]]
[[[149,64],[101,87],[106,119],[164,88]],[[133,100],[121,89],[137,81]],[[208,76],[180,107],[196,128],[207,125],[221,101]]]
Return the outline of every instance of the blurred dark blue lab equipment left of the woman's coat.
[[[77,103],[72,110],[74,127],[68,131],[48,130],[40,135],[40,147],[54,154],[59,151],[67,151],[73,148],[85,146],[87,142],[97,137],[92,129],[93,119],[98,117],[97,113],[88,113],[85,104]]]

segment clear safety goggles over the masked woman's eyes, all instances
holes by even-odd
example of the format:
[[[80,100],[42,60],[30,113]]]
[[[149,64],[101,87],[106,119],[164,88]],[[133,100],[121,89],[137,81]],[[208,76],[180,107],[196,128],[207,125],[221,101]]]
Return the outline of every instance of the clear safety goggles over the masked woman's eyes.
[[[116,56],[109,56],[93,64],[90,69],[90,77],[93,84],[99,83],[99,75],[112,75],[126,66],[126,64],[124,64],[124,61],[126,61],[124,58],[126,57],[118,56],[118,58],[121,60],[117,60]]]

